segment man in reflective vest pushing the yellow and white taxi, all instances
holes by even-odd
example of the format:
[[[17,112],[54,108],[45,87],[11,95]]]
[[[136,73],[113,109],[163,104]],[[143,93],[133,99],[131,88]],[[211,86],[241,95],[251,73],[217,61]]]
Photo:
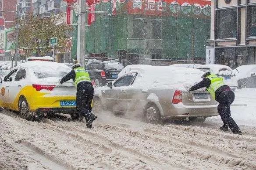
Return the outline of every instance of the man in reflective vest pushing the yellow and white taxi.
[[[86,126],[91,129],[92,122],[97,117],[91,113],[94,88],[89,73],[77,63],[72,66],[72,70],[67,75],[61,78],[60,83],[62,84],[70,79],[75,82],[75,87],[77,89],[76,109],[78,114],[85,116]]]

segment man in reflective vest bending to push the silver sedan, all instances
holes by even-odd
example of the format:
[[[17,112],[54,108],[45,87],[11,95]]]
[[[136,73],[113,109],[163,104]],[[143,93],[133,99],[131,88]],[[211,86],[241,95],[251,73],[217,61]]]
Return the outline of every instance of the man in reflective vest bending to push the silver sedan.
[[[241,130],[235,123],[234,119],[231,118],[230,105],[234,102],[235,93],[231,91],[231,88],[228,85],[225,85],[223,78],[220,76],[206,72],[201,78],[203,78],[203,80],[189,88],[189,91],[206,87],[206,90],[210,92],[213,99],[219,102],[218,113],[224,123],[220,129],[228,131],[229,127],[233,133],[241,135]]]

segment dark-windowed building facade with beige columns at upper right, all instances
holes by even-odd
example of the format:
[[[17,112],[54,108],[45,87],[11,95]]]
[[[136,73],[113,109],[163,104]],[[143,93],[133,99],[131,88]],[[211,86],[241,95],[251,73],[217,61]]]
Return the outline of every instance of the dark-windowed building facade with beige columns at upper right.
[[[256,64],[256,0],[212,0],[206,63]]]

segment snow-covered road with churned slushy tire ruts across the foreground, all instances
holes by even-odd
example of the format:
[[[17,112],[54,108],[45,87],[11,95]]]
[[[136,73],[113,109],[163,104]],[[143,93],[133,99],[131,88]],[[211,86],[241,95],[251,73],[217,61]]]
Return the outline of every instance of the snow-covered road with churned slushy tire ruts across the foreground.
[[[219,116],[161,126],[103,113],[87,129],[65,116],[31,122],[4,111],[0,169],[256,169],[256,89],[235,94],[242,136],[221,132]]]

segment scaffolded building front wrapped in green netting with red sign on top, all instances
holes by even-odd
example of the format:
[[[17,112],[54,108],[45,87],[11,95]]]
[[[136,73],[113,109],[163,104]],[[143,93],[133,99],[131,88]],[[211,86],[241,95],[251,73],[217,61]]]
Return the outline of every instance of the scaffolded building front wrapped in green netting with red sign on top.
[[[97,1],[95,21],[86,29],[88,58],[118,58],[123,65],[204,63],[210,1],[176,1]]]

